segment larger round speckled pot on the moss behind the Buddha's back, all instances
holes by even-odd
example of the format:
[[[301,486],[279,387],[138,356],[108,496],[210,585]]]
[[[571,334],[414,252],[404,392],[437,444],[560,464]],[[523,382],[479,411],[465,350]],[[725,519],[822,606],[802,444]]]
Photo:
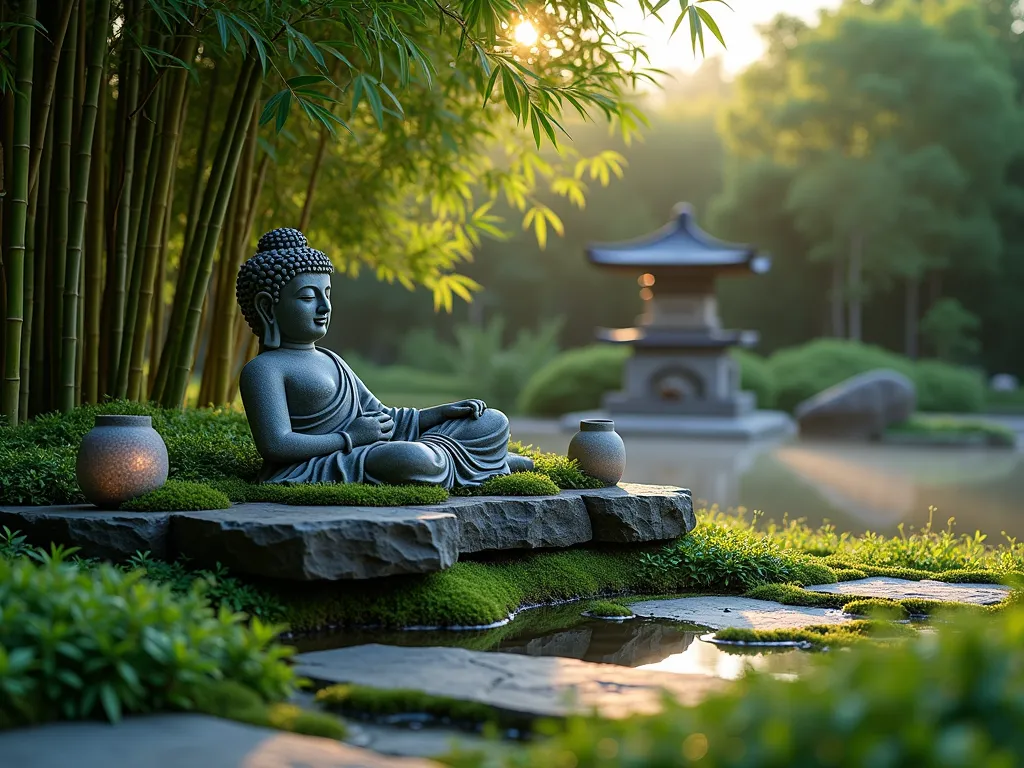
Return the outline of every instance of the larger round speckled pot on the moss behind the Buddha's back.
[[[97,416],[75,474],[89,502],[117,507],[167,481],[167,446],[148,416]]]

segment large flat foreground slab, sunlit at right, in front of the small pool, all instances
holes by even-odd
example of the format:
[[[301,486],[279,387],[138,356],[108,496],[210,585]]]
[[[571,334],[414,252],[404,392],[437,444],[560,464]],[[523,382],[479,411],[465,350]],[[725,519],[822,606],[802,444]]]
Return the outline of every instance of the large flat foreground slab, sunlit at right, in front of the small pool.
[[[650,714],[660,710],[665,691],[693,705],[724,685],[707,675],[465,648],[357,645],[302,653],[295,662],[300,676],[321,684],[413,689],[538,718],[593,711],[606,718]]]

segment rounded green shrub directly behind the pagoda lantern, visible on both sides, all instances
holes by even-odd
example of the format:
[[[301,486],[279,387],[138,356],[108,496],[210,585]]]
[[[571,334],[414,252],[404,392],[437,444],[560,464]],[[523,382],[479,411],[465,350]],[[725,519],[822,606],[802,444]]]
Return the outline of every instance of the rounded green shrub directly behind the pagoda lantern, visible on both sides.
[[[519,411],[531,416],[561,416],[601,407],[606,392],[623,386],[629,347],[592,344],[562,352],[526,382]],[[757,395],[759,408],[773,408],[775,385],[767,360],[741,349],[732,351],[739,364],[740,386]]]

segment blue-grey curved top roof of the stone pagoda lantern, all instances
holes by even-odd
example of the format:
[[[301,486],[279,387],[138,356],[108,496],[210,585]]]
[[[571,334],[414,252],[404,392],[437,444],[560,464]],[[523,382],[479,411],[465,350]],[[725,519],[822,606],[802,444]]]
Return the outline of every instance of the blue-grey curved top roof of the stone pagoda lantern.
[[[691,206],[678,205],[674,213],[674,219],[657,231],[624,243],[592,245],[587,257],[597,266],[663,274],[762,273],[771,266],[771,257],[755,247],[725,243],[700,229]]]

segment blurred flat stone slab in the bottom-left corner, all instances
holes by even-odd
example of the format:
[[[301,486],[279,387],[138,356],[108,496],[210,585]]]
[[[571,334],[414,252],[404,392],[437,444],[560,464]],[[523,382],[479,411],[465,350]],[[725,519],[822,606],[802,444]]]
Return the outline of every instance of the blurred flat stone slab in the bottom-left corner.
[[[385,757],[328,738],[204,715],[3,731],[0,755],[11,768],[439,768],[428,760]]]

